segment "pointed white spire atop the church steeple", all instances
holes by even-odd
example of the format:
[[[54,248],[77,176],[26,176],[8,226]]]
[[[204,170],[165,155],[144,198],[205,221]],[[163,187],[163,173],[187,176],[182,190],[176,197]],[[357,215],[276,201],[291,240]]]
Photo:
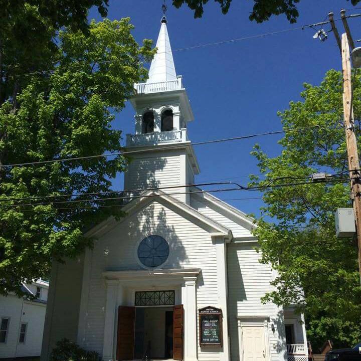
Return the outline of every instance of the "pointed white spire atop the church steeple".
[[[176,80],[173,55],[167,31],[165,15],[161,19],[161,26],[156,43],[157,53],[150,64],[147,83],[157,83],[167,80]]]

